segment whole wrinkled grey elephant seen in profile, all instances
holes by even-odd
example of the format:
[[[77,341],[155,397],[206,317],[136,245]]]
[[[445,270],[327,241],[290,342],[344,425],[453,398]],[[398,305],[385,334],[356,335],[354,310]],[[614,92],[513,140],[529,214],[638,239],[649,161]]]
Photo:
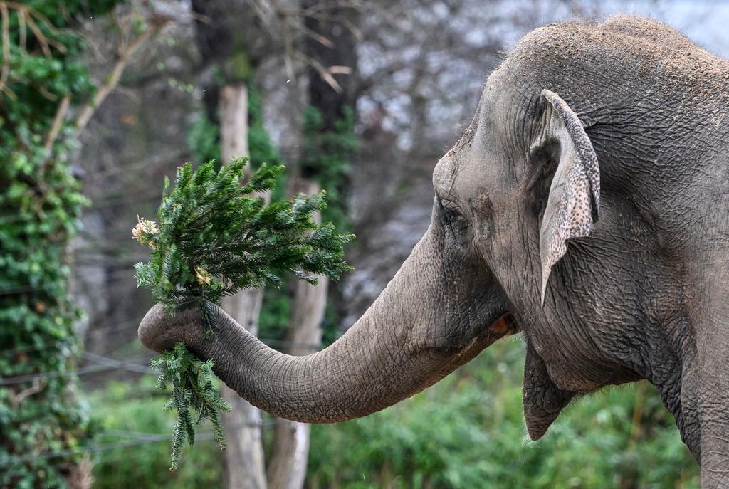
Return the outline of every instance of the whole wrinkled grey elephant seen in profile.
[[[204,340],[196,310],[160,306],[141,340],[184,340],[253,404],[316,423],[521,331],[532,439],[576,394],[647,379],[703,487],[729,487],[728,94],[728,63],[655,21],[540,28],[488,77],[434,170],[429,229],[340,340],[286,356],[222,310]]]

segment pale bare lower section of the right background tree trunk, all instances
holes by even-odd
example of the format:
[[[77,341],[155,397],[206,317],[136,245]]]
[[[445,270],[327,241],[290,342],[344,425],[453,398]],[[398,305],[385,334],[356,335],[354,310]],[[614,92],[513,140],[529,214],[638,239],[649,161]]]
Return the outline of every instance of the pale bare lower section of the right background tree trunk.
[[[292,182],[292,194],[312,195],[319,192],[319,184],[297,178]],[[321,222],[321,216],[314,216]],[[292,283],[294,299],[291,306],[291,320],[287,340],[291,345],[287,353],[306,355],[316,351],[321,343],[321,321],[327,307],[326,277],[319,278],[319,285],[312,286],[302,280]],[[276,426],[273,447],[266,477],[269,489],[303,488],[309,454],[309,430],[306,423],[280,420]]]

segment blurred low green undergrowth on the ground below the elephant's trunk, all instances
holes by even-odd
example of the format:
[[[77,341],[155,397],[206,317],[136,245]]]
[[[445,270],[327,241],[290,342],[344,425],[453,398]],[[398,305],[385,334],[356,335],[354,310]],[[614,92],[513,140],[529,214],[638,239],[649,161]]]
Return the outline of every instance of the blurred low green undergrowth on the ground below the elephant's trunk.
[[[529,441],[522,367],[521,340],[502,340],[412,399],[367,418],[313,426],[305,487],[699,487],[698,466],[646,383],[578,399],[542,440]],[[110,383],[89,403],[109,429],[165,432],[172,420],[153,384]],[[171,473],[165,441],[101,457],[98,487],[210,487],[220,480],[214,442],[196,442]]]

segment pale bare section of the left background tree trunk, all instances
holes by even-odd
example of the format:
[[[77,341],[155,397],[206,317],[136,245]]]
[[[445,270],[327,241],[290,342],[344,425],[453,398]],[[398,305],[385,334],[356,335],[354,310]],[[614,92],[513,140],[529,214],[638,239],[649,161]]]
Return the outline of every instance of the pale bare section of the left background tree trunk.
[[[248,154],[248,90],[238,83],[223,87],[219,102],[222,163]],[[268,196],[264,196],[268,197]],[[248,289],[225,297],[223,309],[249,330],[258,333],[258,315],[263,291]],[[222,387],[222,396],[233,407],[223,416],[227,435],[225,487],[228,489],[265,489],[265,464],[261,441],[261,414],[235,391]]]

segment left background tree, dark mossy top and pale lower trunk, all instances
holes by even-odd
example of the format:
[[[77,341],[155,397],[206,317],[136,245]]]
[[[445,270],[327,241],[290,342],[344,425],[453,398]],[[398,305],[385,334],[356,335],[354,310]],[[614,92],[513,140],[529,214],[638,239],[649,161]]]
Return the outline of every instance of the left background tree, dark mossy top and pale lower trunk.
[[[242,31],[252,22],[246,12],[249,0],[192,0],[195,37],[200,58],[216,77],[203,81],[203,101],[210,120],[219,121],[220,157],[226,165],[231,158],[249,155],[248,82],[252,66]],[[241,31],[242,29],[242,31]],[[268,195],[261,195],[268,200]],[[222,300],[222,307],[253,335],[258,334],[262,291],[246,289]],[[222,396],[232,407],[222,417],[227,435],[224,476],[227,489],[265,489],[265,459],[261,436],[261,413],[241,399],[235,391],[222,386]]]

